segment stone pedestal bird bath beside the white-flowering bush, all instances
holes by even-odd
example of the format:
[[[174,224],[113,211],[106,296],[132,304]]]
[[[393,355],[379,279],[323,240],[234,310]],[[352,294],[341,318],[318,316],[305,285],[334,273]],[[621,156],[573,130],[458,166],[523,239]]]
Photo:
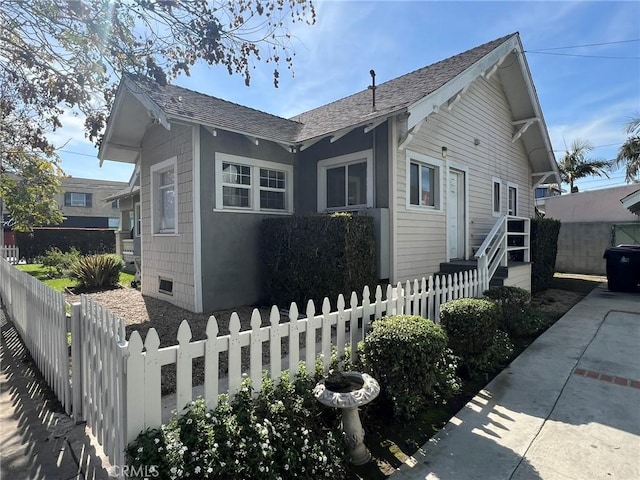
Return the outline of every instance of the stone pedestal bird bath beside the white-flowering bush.
[[[320,380],[313,394],[323,405],[342,410],[342,429],[351,463],[363,465],[371,460],[364,444],[364,429],[358,407],[366,405],[380,393],[375,378],[360,372],[340,372]]]

